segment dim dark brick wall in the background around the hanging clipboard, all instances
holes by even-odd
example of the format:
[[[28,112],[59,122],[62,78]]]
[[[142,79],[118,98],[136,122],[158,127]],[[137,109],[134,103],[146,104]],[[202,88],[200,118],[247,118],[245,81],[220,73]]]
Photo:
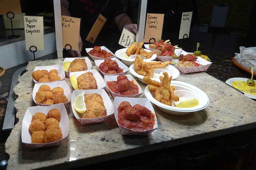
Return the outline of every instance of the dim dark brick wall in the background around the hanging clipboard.
[[[198,23],[207,23],[210,26],[213,7],[220,2],[229,6],[225,27],[233,31],[247,32],[254,0],[197,0]]]

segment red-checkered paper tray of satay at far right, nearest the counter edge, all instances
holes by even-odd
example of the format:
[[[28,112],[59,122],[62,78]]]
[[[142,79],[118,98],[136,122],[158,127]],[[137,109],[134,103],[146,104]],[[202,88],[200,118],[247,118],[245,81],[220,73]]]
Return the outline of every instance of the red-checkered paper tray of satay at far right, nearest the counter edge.
[[[201,57],[197,57],[197,58],[198,59],[196,60],[196,62],[198,64],[201,64],[201,66],[198,66],[198,67],[179,67],[176,64],[173,65],[173,66],[176,67],[183,74],[206,71],[211,66],[212,62],[209,62],[209,61],[207,61],[207,60],[205,60]],[[175,59],[175,60],[173,60],[173,62],[179,62],[179,60]]]

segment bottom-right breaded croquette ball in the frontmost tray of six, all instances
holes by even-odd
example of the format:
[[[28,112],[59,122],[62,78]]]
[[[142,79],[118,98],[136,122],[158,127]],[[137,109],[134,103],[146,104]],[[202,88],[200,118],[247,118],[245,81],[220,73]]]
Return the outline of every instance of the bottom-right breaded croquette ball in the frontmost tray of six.
[[[51,125],[51,126],[54,126],[54,125]],[[44,142],[45,143],[58,141],[61,138],[62,138],[62,131],[61,131],[61,127],[59,127],[59,126],[58,126],[58,128],[47,129],[44,133]]]

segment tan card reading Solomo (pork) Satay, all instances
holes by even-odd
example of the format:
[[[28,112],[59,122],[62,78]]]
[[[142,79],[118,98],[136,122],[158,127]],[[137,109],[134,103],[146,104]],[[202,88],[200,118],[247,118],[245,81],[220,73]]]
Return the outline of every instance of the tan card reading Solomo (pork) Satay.
[[[164,24],[164,14],[147,14],[144,42],[150,39],[157,41],[162,39],[162,30]],[[154,42],[150,41],[150,42]]]

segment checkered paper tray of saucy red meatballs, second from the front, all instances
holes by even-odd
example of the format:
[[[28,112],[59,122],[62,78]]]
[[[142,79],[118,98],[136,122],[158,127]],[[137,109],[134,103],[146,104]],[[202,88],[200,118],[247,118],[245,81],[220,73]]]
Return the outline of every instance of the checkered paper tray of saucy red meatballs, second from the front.
[[[133,97],[133,98],[137,98],[137,97],[139,97],[143,93],[141,87],[139,86],[139,83],[133,78],[132,75],[126,74],[125,76],[128,78],[128,80],[133,81],[139,87],[139,93],[135,94],[135,95],[131,95],[131,96],[125,96],[125,95],[120,95],[120,94],[112,92],[108,87],[107,81],[117,81],[118,75],[114,75],[114,76],[105,75],[104,80],[105,80],[105,83],[108,87],[108,90],[111,92],[111,95],[113,96],[113,98],[115,98],[115,97]]]

